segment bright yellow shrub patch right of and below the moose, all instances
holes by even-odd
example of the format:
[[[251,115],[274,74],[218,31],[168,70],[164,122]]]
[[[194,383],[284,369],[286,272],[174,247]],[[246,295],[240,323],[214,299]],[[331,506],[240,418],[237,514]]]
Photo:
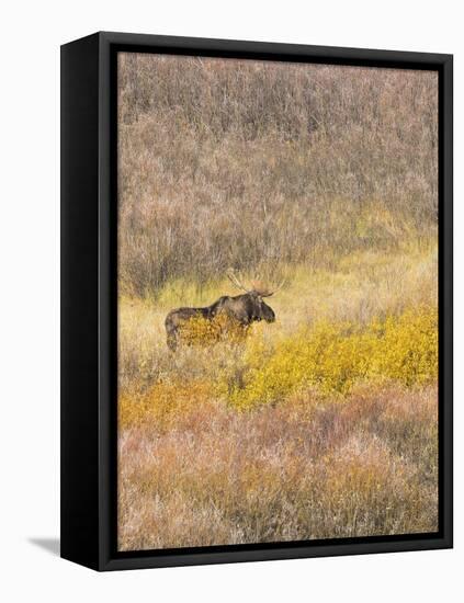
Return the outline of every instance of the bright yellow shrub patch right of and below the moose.
[[[438,373],[437,308],[420,307],[365,327],[321,321],[271,351],[251,341],[241,383],[229,401],[239,408],[275,402],[302,388],[348,394],[363,380],[423,384]]]

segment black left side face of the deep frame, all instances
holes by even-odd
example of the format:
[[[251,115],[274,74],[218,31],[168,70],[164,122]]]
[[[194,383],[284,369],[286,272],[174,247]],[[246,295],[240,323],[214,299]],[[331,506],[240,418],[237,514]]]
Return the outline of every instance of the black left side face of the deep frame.
[[[60,49],[60,556],[98,569],[98,45]]]

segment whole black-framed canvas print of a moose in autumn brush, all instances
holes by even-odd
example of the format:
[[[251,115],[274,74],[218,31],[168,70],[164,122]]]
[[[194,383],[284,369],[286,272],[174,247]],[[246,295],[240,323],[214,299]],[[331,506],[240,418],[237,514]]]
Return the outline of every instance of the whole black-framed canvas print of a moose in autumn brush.
[[[61,47],[61,556],[452,546],[452,57]]]

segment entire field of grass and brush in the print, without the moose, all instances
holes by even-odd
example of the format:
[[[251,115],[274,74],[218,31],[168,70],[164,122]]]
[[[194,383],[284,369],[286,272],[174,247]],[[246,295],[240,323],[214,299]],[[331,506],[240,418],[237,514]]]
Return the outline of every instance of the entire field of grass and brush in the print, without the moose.
[[[120,550],[438,531],[437,185],[434,72],[118,55]]]

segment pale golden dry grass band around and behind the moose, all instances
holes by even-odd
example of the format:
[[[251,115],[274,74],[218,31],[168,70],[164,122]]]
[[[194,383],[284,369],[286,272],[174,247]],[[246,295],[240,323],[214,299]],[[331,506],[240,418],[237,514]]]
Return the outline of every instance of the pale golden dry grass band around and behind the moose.
[[[274,325],[254,325],[250,339],[272,350],[316,323],[369,325],[399,316],[408,308],[437,307],[437,247],[422,243],[397,253],[365,252],[346,257],[329,270],[293,266],[288,282],[269,303]],[[226,277],[203,287],[172,281],[158,298],[120,297],[120,390],[139,390],[158,382],[217,382],[225,373],[245,371],[244,349],[234,341],[185,346],[171,354],[166,345],[165,317],[180,305],[204,306],[236,292]],[[433,310],[432,310],[433,311]],[[407,328],[407,326],[405,326]],[[251,343],[250,342],[250,343]]]

